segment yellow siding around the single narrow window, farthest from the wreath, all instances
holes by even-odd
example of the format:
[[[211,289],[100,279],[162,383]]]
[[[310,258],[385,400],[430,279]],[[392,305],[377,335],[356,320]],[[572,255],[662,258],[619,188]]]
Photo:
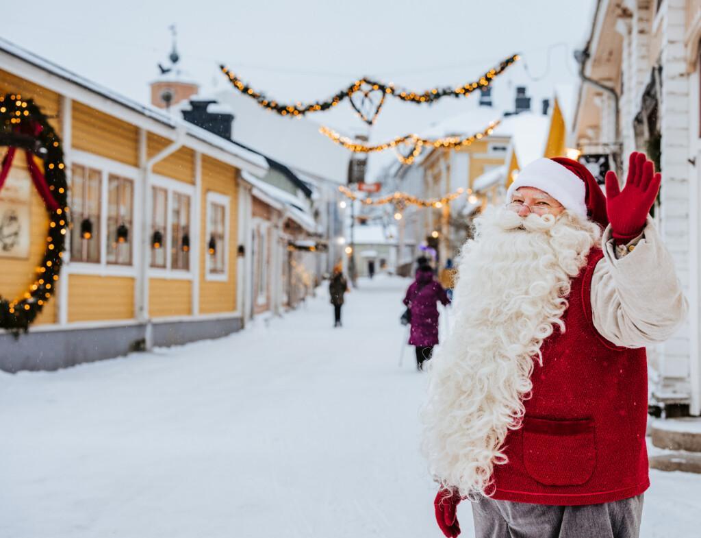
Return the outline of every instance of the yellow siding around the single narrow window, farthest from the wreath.
[[[207,192],[229,196],[229,268],[226,282],[207,281]],[[236,310],[236,248],[238,246],[238,171],[211,157],[202,156],[200,206],[200,314]]]

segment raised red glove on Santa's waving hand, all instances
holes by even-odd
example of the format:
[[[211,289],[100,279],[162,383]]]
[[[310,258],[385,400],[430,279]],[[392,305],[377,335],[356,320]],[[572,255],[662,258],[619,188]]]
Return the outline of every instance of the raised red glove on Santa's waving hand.
[[[606,172],[606,214],[616,243],[627,243],[643,231],[661,180],[653,161],[639,152],[630,154],[628,179],[622,191],[615,172]]]

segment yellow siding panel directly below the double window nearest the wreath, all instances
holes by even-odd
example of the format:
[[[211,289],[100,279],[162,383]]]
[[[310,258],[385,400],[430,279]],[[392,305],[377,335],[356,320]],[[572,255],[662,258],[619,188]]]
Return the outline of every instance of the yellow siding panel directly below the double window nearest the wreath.
[[[80,274],[68,278],[68,321],[134,317],[134,278]]]

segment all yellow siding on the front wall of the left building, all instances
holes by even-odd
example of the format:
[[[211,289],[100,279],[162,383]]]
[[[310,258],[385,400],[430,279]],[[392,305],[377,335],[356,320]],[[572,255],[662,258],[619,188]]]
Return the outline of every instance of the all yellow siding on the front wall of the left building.
[[[62,97],[41,86],[20,79],[13,74],[0,70],[0,92],[21,93],[22,98],[33,99],[45,114],[59,135],[61,131],[61,101]],[[88,105],[72,100],[72,140],[70,147],[64,147],[69,153],[76,149],[86,154],[102,157],[124,163],[135,168],[139,167],[139,128],[115,116],[106,114]],[[161,152],[171,143],[170,140],[154,133],[146,135],[146,155],[148,158]],[[4,152],[0,149],[0,159]],[[74,161],[82,163],[74,154]],[[109,161],[90,160],[86,156],[83,161],[89,161],[88,166],[107,172]],[[114,166],[118,166],[115,164]],[[16,170],[15,170],[16,169]],[[182,147],[165,159],[158,161],[153,167],[153,173],[163,175],[187,184],[195,184],[195,151],[191,147]],[[23,173],[28,176],[25,156],[18,152],[13,163],[12,173]],[[193,314],[193,287],[199,287],[198,309],[201,314],[233,314],[237,307],[237,246],[238,246],[238,169],[229,166],[206,154],[201,159],[201,201],[195,208],[195,217],[200,222],[199,252],[192,253],[191,263],[198,263],[200,275],[197,281],[191,279],[149,278],[148,316],[165,318],[174,316],[191,316]],[[67,174],[70,185],[70,170]],[[105,176],[107,177],[107,175]],[[138,183],[141,175],[132,175],[134,181],[134,196],[139,196]],[[105,180],[107,181],[107,180]],[[226,279],[214,281],[207,279],[205,274],[205,256],[207,250],[207,192],[215,192],[229,199],[228,220],[228,264]],[[102,192],[107,196],[107,192]],[[135,206],[136,207],[136,206]],[[39,194],[32,186],[30,199],[30,248],[27,259],[0,259],[0,295],[9,299],[18,298],[31,285],[34,272],[46,247],[46,229],[48,216]],[[169,209],[170,210],[170,209]],[[139,214],[132,215],[132,237],[135,227],[140,226]],[[73,223],[79,226],[80,223]],[[35,324],[58,323],[59,311],[65,311],[66,321],[70,323],[91,323],[135,320],[136,273],[138,248],[132,251],[132,265],[115,266],[102,263],[74,262],[64,267],[60,276],[60,285],[67,286],[64,295],[67,304],[59,304],[59,292],[46,303]],[[74,272],[71,272],[74,271]],[[63,308],[65,310],[63,310]],[[70,326],[70,325],[69,325]]]

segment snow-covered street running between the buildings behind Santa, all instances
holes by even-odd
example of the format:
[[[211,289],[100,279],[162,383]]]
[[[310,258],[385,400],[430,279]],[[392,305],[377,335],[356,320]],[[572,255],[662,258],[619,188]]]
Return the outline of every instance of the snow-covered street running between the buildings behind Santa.
[[[406,285],[362,282],[341,329],[322,291],[224,339],[0,373],[0,537],[440,537]],[[701,476],[652,480],[641,536],[697,536]]]

